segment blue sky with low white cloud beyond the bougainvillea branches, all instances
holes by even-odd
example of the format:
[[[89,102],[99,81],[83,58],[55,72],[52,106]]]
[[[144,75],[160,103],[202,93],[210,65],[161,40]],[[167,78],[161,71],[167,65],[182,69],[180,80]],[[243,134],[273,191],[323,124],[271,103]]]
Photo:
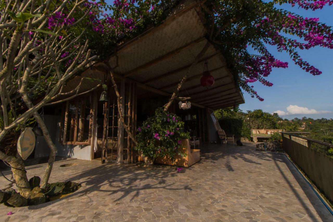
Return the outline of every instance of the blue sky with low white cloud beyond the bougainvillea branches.
[[[282,8],[295,12],[304,17],[318,17],[320,22],[333,26],[333,5],[326,6],[322,10],[306,11],[283,5]],[[281,110],[287,113],[287,107],[296,105],[298,107],[289,107],[289,113],[293,114],[281,116],[282,118],[293,119],[303,116],[311,118],[333,118],[333,50],[316,47],[310,50],[300,50],[302,58],[314,65],[323,73],[319,76],[312,76],[310,73],[300,69],[295,65],[287,53],[279,53],[274,46],[267,46],[268,50],[277,58],[289,63],[287,69],[274,68],[267,80],[272,82],[272,87],[263,86],[261,83],[253,84],[258,94],[265,100],[260,102],[256,98],[251,98],[244,92],[245,104],[239,106],[243,111],[262,109],[266,112]],[[294,108],[294,109],[291,109]],[[329,111],[329,112],[321,112]],[[318,113],[318,114],[306,114]],[[287,113],[288,114],[288,113]]]

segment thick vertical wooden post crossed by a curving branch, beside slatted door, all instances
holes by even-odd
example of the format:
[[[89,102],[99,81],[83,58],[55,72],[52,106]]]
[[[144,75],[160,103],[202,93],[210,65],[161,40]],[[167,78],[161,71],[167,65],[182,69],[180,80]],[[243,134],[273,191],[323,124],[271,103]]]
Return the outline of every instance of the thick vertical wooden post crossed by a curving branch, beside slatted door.
[[[124,113],[124,106],[125,106],[125,80],[122,79],[120,83],[120,100],[121,100],[121,107],[118,107],[118,109],[121,109],[121,113]],[[124,126],[123,122],[118,119],[118,153],[117,153],[117,163],[123,163],[124,159]]]

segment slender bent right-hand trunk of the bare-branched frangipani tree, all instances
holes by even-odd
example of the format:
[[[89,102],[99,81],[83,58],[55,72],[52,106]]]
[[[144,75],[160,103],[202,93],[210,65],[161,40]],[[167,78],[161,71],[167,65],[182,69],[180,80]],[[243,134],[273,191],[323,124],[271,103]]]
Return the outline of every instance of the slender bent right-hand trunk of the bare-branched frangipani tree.
[[[37,112],[35,112],[33,115],[34,115],[34,118],[36,119],[38,125],[42,129],[43,136],[44,136],[44,139],[45,139],[47,145],[51,149],[50,156],[49,156],[49,161],[46,165],[43,180],[42,180],[42,183],[41,183],[41,188],[44,189],[46,187],[47,183],[49,182],[49,179],[50,179],[53,163],[54,163],[54,160],[55,160],[56,154],[57,154],[57,147],[52,142],[52,139],[51,139],[50,134],[49,134],[49,130],[47,129],[42,117],[40,117],[40,115]]]

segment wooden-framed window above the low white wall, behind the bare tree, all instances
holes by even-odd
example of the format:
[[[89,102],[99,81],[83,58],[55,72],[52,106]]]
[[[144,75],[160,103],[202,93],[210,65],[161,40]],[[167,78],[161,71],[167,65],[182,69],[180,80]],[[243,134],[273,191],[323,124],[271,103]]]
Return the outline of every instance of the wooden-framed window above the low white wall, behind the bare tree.
[[[92,96],[81,96],[66,102],[63,115],[63,144],[91,144]]]

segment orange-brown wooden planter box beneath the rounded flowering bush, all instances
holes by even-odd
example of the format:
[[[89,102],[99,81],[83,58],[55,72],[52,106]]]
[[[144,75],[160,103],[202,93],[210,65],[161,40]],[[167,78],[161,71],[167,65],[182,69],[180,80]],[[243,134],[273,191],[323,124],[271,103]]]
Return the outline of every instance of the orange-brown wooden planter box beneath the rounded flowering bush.
[[[154,163],[159,164],[166,164],[166,165],[177,165],[182,167],[190,167],[194,163],[198,162],[200,160],[200,150],[199,149],[191,149],[189,146],[189,140],[188,139],[182,139],[181,145],[183,152],[187,155],[185,157],[181,156],[175,156],[175,160],[172,162],[171,159],[166,157],[157,157],[154,161]],[[139,161],[144,161],[144,159],[140,156]]]

